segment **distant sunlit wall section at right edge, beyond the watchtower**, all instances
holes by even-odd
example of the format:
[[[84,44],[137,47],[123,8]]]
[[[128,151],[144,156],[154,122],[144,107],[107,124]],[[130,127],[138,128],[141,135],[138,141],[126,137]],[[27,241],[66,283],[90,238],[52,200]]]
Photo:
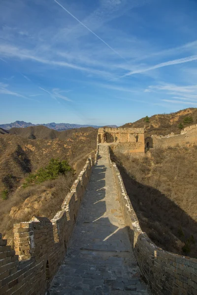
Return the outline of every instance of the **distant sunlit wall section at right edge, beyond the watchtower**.
[[[181,134],[170,133],[166,136],[152,135],[153,148],[167,148],[186,144],[197,143],[197,124],[188,126],[181,131]],[[145,142],[148,140],[146,139]]]

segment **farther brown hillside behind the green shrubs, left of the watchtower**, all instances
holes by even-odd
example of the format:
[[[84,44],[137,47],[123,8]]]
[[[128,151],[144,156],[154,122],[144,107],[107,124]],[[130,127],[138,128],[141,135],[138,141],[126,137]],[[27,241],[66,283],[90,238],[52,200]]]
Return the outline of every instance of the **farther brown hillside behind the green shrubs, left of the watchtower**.
[[[81,162],[96,148],[94,128],[58,132],[37,126],[14,128],[11,132],[15,135],[0,135],[0,191],[12,190],[27,173],[46,166],[50,158],[67,158],[78,171]]]

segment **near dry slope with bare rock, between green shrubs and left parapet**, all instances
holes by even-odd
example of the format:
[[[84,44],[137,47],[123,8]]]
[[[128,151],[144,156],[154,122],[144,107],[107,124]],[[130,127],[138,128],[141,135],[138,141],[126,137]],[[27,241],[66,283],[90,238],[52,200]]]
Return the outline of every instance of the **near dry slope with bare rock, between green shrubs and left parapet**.
[[[74,176],[69,173],[39,185],[19,188],[6,201],[0,200],[0,233],[13,246],[13,224],[29,221],[33,215],[52,219],[68,193]]]

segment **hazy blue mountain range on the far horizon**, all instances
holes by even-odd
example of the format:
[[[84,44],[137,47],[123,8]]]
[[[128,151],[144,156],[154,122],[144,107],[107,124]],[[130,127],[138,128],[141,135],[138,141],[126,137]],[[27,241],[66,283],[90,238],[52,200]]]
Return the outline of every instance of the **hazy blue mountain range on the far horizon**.
[[[73,129],[73,128],[81,128],[81,127],[94,127],[94,128],[99,128],[101,126],[96,126],[96,125],[79,125],[79,124],[69,124],[69,123],[47,123],[47,124],[33,124],[31,122],[24,122],[24,121],[15,121],[13,123],[8,123],[8,124],[0,124],[0,128],[9,130],[13,127],[16,128],[25,128],[25,127],[30,127],[30,126],[46,126],[50,129],[54,130],[67,130],[67,129]],[[116,125],[109,125],[109,127],[117,127]]]

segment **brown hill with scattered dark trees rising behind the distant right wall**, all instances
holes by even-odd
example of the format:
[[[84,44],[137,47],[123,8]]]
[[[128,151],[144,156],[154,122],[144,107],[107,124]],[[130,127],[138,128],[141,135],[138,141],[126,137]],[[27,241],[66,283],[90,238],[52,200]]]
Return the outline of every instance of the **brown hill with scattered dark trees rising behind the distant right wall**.
[[[121,127],[144,127],[145,136],[152,134],[167,135],[171,132],[179,134],[182,129],[197,123],[197,108],[188,108],[176,113],[159,114],[150,118],[141,118],[133,123],[124,124]],[[182,126],[180,125],[182,124]]]

